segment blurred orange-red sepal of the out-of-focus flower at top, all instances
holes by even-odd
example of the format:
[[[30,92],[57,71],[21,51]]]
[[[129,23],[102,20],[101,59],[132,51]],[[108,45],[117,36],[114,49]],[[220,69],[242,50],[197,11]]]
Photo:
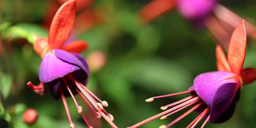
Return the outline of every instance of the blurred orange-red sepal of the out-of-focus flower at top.
[[[174,6],[175,0],[153,0],[140,10],[139,16],[148,23],[161,14],[171,10]]]

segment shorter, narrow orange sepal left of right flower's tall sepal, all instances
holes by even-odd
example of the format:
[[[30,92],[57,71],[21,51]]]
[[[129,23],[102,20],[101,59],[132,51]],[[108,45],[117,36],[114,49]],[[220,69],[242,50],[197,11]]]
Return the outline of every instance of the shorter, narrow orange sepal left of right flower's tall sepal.
[[[228,71],[231,72],[231,69],[228,65],[228,60],[225,53],[223,52],[220,44],[216,46],[216,63],[218,71]]]

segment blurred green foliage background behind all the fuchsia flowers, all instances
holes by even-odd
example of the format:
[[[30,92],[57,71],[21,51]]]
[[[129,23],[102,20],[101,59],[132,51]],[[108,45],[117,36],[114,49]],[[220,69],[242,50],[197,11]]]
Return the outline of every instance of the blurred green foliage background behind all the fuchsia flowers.
[[[26,83],[39,83],[38,68],[41,58],[34,52],[27,40],[16,39],[26,32],[47,36],[45,23],[47,10],[53,0],[0,0],[2,32],[15,26],[10,33],[1,33],[2,38],[11,35],[14,40],[3,41],[0,56],[0,91],[3,107],[10,113],[11,125],[15,128],[63,128],[68,127],[68,118],[61,100],[54,100],[47,90],[39,96]],[[124,128],[136,124],[162,110],[161,106],[185,98],[188,94],[161,98],[154,102],[146,99],[187,90],[193,79],[204,72],[216,70],[215,42],[210,32],[197,29],[172,10],[145,25],[136,17],[137,12],[150,0],[94,0],[86,9],[100,8],[104,22],[79,33],[76,39],[86,40],[89,48],[84,57],[93,51],[100,51],[106,57],[106,64],[92,71],[88,87],[100,99],[108,101],[106,110],[111,113],[114,123]],[[253,0],[223,0],[221,4],[243,17],[256,20],[256,2]],[[86,10],[84,9],[84,10]],[[78,12],[79,13],[79,12]],[[255,24],[255,23],[253,23]],[[10,30],[11,31],[11,30]],[[21,34],[21,35],[20,35]],[[8,36],[8,37],[9,37]],[[256,68],[256,41],[248,37],[248,47],[244,67]],[[93,66],[93,63],[92,65]],[[208,128],[255,127],[256,83],[246,85],[241,91],[234,116],[222,124],[206,124]],[[78,102],[84,103],[78,98]],[[85,127],[77,113],[71,97],[67,98],[71,117],[77,128]],[[39,117],[35,124],[22,122],[22,114],[27,108],[35,108]],[[90,109],[84,105],[86,117],[91,125],[110,127],[105,120],[96,120]],[[166,120],[155,119],[141,128],[155,128],[168,124],[186,110],[169,116]],[[1,112],[1,111],[0,111]],[[191,113],[173,128],[186,127],[196,113]],[[8,119],[7,119],[8,120]],[[203,124],[203,121],[199,125]],[[0,127],[7,127],[0,118]]]

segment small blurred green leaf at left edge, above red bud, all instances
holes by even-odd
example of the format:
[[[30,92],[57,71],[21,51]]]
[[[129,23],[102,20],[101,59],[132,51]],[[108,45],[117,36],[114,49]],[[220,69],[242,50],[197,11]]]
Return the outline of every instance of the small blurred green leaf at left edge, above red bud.
[[[6,99],[12,87],[12,76],[10,74],[0,73],[0,91],[3,98]]]

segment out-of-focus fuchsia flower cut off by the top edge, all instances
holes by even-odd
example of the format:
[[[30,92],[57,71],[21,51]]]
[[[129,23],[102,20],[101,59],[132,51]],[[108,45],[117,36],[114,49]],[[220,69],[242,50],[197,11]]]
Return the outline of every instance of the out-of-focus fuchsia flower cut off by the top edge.
[[[225,51],[233,29],[243,20],[218,4],[218,0],[152,0],[141,8],[138,15],[145,23],[149,23],[175,7],[182,17],[194,25],[206,26]],[[247,23],[246,30],[249,36],[256,39],[255,26]]]

